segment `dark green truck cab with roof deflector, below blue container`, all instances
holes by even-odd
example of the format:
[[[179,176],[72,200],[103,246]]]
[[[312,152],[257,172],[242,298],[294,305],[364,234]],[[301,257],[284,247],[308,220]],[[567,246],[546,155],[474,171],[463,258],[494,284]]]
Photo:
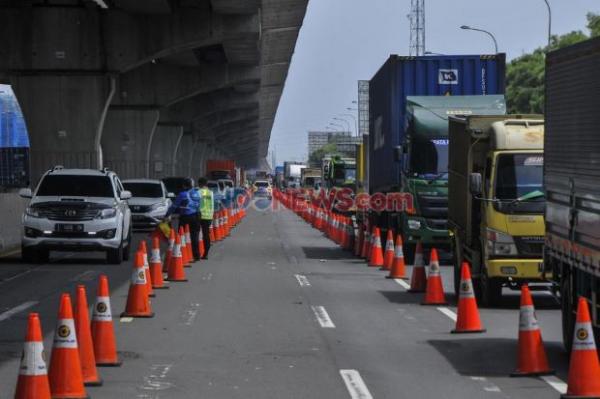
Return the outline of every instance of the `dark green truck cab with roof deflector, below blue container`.
[[[504,96],[408,96],[406,107],[406,139],[395,155],[402,165],[397,191],[412,195],[413,209],[390,213],[390,225],[402,233],[408,263],[413,262],[417,242],[444,250],[440,254],[449,259],[448,118],[503,115]]]

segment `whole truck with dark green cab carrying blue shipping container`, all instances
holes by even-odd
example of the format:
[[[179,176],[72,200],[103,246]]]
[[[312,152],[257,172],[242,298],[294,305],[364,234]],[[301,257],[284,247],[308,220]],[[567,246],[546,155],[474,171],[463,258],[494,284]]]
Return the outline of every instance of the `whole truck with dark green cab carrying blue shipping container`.
[[[411,214],[371,212],[371,223],[449,254],[448,116],[504,114],[505,55],[392,55],[369,85],[369,192],[410,193]]]

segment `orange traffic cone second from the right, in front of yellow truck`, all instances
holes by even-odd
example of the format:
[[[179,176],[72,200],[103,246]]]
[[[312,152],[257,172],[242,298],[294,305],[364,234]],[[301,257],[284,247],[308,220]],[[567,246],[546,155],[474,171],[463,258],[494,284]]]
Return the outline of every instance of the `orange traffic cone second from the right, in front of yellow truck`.
[[[554,374],[548,366],[542,333],[527,284],[521,286],[519,313],[519,358],[517,371],[511,377]]]

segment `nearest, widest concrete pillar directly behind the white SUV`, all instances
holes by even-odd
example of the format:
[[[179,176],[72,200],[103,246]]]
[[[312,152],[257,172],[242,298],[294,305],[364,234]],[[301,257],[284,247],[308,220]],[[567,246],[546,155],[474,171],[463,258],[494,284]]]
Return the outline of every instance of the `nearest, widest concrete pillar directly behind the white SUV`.
[[[32,184],[54,165],[102,168],[100,141],[113,78],[21,75],[11,83],[29,132]]]

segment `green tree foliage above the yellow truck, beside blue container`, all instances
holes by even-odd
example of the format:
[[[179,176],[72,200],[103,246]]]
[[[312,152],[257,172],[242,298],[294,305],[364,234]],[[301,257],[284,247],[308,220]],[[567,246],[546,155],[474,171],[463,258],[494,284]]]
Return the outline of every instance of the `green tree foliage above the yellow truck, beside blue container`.
[[[513,59],[506,68],[506,99],[509,113],[541,114],[544,112],[545,53],[600,36],[600,15],[587,14],[590,36],[582,31],[554,35],[550,47]]]

